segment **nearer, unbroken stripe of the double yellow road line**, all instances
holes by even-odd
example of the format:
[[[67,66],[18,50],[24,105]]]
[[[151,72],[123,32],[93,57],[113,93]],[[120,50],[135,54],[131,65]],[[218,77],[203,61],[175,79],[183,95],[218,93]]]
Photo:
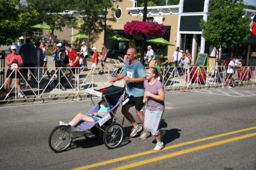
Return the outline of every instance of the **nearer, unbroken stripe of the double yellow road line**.
[[[163,156],[158,156],[158,157],[155,157],[155,158],[135,162],[133,164],[119,166],[119,167],[114,168],[112,170],[126,170],[126,169],[129,169],[129,168],[134,168],[136,166],[149,164],[149,163],[160,161],[160,160],[163,160],[163,159],[175,157],[175,156],[178,156],[178,155],[181,155],[181,154],[187,154],[187,153],[194,152],[194,151],[197,151],[197,150],[206,149],[206,148],[210,148],[210,147],[213,147],[213,146],[218,146],[218,145],[222,145],[222,144],[225,144],[225,143],[234,142],[234,141],[237,141],[237,140],[250,138],[250,137],[254,137],[254,136],[256,136],[256,133],[251,133],[251,134],[247,134],[247,135],[243,135],[243,136],[239,136],[239,137],[235,137],[235,138],[230,138],[230,139],[222,140],[222,141],[219,141],[219,142],[209,143],[209,144],[205,144],[205,145],[198,146],[198,147],[195,147],[195,148],[181,150],[179,152],[166,154],[166,155],[163,155]]]

